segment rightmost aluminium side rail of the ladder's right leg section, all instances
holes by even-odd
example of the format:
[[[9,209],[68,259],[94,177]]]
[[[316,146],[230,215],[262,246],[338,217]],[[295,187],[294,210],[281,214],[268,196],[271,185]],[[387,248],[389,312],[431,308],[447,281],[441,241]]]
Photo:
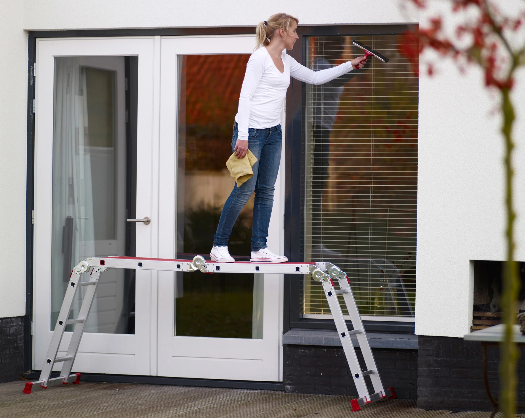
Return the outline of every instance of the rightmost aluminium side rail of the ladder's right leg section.
[[[356,334],[355,336],[358,339],[359,347],[361,348],[361,353],[363,354],[364,362],[366,364],[366,369],[375,371],[374,373],[371,373],[369,375],[370,380],[372,381],[372,385],[374,387],[374,391],[375,393],[381,392],[382,395],[385,396],[386,393],[383,386],[383,382],[381,381],[381,376],[379,375],[379,371],[377,370],[374,354],[372,353],[372,349],[370,348],[368,338],[366,337],[363,321],[361,320],[361,315],[359,314],[358,305],[355,303],[355,298],[354,294],[352,293],[350,283],[346,277],[339,278],[338,281],[339,287],[343,290],[346,290],[346,292],[343,293],[343,299],[344,303],[346,304],[346,309],[348,309],[348,313],[350,314],[350,320],[352,321],[352,325],[354,329],[361,329],[361,332]]]

